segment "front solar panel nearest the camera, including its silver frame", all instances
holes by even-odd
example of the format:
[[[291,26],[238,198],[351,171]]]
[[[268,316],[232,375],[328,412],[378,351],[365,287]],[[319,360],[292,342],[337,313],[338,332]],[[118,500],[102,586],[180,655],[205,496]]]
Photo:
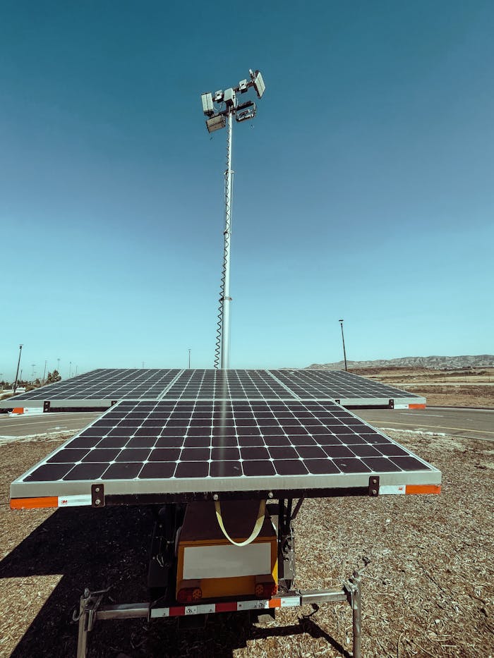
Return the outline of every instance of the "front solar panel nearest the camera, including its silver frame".
[[[440,473],[331,402],[123,401],[13,482],[11,495],[191,494],[434,484]]]

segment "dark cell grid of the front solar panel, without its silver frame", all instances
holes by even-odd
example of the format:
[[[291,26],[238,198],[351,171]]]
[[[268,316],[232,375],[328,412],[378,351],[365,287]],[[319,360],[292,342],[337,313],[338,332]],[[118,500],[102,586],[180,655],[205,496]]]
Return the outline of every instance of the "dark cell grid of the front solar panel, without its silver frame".
[[[330,402],[125,401],[20,481],[310,479],[421,470],[431,469]]]

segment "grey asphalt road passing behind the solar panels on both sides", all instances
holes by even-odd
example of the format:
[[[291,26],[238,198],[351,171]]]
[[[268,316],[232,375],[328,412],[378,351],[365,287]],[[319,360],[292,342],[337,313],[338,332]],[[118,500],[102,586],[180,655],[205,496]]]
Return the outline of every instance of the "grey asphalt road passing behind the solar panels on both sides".
[[[356,409],[355,415],[382,429],[410,429],[494,441],[494,409],[428,407],[417,410]],[[46,432],[77,432],[100,415],[97,412],[0,414],[0,439]]]

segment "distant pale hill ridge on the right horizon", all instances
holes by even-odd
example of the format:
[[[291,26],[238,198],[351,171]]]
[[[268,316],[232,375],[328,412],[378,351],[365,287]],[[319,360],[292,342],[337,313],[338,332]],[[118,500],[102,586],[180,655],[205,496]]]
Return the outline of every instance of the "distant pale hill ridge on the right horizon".
[[[401,359],[377,359],[375,361],[347,361],[349,368],[485,368],[494,367],[494,355],[478,356],[405,356]],[[344,361],[336,363],[313,363],[313,370],[342,370]]]

